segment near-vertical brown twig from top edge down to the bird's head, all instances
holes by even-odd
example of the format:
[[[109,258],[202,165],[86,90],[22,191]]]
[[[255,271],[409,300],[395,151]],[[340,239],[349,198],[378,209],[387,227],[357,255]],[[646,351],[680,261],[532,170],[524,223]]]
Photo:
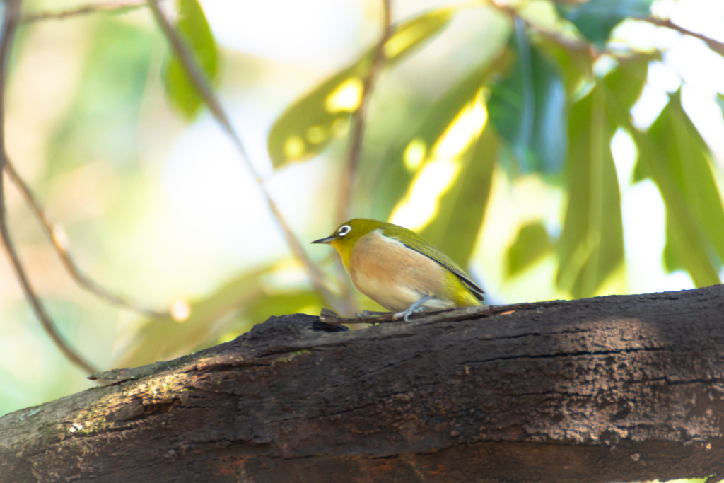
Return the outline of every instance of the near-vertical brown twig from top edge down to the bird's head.
[[[390,0],[382,0],[382,9],[384,11],[384,20],[382,35],[374,49],[372,57],[372,65],[370,66],[367,77],[365,77],[362,85],[362,93],[360,97],[360,105],[352,116],[352,130],[350,133],[350,148],[345,162],[344,171],[340,178],[340,196],[337,201],[337,224],[345,222],[350,213],[350,204],[352,201],[352,187],[357,174],[360,154],[362,151],[362,140],[364,138],[364,129],[366,126],[367,106],[371,97],[374,83],[379,73],[382,62],[384,61],[384,44],[392,35],[392,7]]]

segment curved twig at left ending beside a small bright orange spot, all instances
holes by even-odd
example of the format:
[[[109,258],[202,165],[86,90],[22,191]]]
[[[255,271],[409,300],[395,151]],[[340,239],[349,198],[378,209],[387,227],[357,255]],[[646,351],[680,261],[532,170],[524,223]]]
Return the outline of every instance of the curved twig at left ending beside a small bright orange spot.
[[[146,308],[138,305],[137,303],[132,303],[131,301],[127,300],[127,298],[111,293],[106,288],[101,287],[98,282],[81,272],[77,264],[75,264],[75,261],[73,261],[73,259],[71,258],[70,253],[68,253],[67,248],[63,246],[61,240],[58,240],[58,237],[55,234],[54,225],[48,218],[48,215],[45,213],[45,211],[43,211],[41,204],[35,198],[33,192],[30,191],[30,188],[25,183],[25,181],[23,181],[22,178],[17,174],[17,171],[15,171],[15,168],[13,167],[10,159],[8,158],[5,159],[5,172],[7,172],[10,180],[14,183],[17,189],[20,190],[20,193],[22,193],[25,201],[28,203],[28,205],[30,205],[30,209],[33,210],[33,213],[35,213],[35,217],[37,217],[38,221],[41,222],[43,231],[46,232],[46,235],[51,240],[51,243],[53,244],[56,253],[58,253],[61,263],[70,274],[72,279],[75,280],[75,282],[77,282],[80,287],[83,287],[85,290],[88,290],[88,292],[93,293],[93,295],[96,295],[98,298],[102,298],[105,301],[113,303],[117,306],[136,311],[142,315],[151,317],[168,315],[168,312],[161,312],[153,310],[151,308]]]

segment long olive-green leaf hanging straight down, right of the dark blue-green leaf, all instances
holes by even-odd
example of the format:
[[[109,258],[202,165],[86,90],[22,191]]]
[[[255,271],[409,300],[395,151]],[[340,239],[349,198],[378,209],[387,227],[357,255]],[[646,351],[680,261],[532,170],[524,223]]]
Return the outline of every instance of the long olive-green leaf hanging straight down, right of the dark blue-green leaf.
[[[568,124],[568,209],[556,282],[575,298],[594,295],[623,261],[620,193],[610,149],[616,125],[606,119],[604,96],[597,87],[573,104]]]

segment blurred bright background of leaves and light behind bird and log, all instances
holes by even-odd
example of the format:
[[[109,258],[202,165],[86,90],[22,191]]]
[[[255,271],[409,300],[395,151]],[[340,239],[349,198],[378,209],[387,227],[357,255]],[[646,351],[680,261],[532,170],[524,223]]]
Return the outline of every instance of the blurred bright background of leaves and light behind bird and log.
[[[6,177],[9,230],[62,336],[105,370],[232,340],[271,315],[319,314],[329,303],[180,79],[151,10],[111,2],[57,15],[87,5],[23,2],[9,157],[85,274],[172,316],[80,288]],[[344,293],[336,253],[308,243],[340,222],[350,114],[384,30],[382,2],[161,6],[324,284]],[[709,41],[660,26],[668,20]],[[721,42],[720,0],[392,0],[348,213],[421,232],[488,303],[718,283]],[[93,386],[86,375],[0,258],[0,415]]]

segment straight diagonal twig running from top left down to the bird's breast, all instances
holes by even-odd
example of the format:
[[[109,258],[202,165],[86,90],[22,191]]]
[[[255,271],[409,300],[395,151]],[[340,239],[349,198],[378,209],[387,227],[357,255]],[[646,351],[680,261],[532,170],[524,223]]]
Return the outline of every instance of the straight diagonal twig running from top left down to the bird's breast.
[[[153,16],[156,17],[156,22],[159,23],[161,30],[163,30],[164,35],[171,44],[174,54],[176,54],[177,58],[181,62],[188,79],[193,84],[194,88],[198,92],[198,95],[201,96],[204,103],[209,108],[211,115],[214,116],[216,122],[219,122],[219,124],[224,128],[224,131],[226,131],[227,135],[236,146],[237,151],[239,151],[246,167],[256,180],[259,190],[261,190],[261,194],[264,196],[267,206],[269,206],[271,214],[274,216],[274,219],[276,219],[277,224],[279,224],[279,228],[282,230],[282,234],[287,241],[287,245],[289,245],[289,248],[294,256],[306,269],[312,286],[317,293],[324,298],[324,301],[332,306],[340,306],[339,298],[324,285],[324,274],[322,274],[319,268],[313,263],[313,261],[311,261],[296,235],[292,232],[291,227],[284,217],[282,217],[282,213],[279,211],[277,203],[274,202],[274,199],[271,198],[269,191],[266,190],[266,187],[264,186],[264,179],[262,179],[258,172],[256,172],[256,169],[254,169],[253,164],[251,164],[251,158],[249,158],[246,149],[241,142],[240,136],[234,130],[234,127],[232,127],[229,117],[219,102],[219,98],[216,97],[216,93],[214,93],[213,89],[211,89],[209,80],[206,78],[206,75],[203,74],[203,71],[198,64],[198,60],[188,46],[188,43],[181,37],[181,35],[179,35],[174,26],[171,25],[171,22],[169,22],[164,12],[161,11],[159,0],[148,0],[148,7],[151,7],[151,12],[153,12]]]

